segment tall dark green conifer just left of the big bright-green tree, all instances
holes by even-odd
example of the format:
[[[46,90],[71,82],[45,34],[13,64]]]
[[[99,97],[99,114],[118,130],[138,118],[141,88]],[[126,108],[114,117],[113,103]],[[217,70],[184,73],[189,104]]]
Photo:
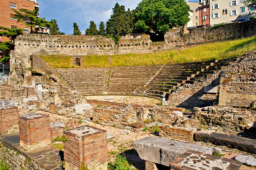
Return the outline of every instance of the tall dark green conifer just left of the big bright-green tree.
[[[113,14],[110,19],[106,22],[106,34],[112,36],[115,43],[119,41],[121,36],[130,34],[132,29],[130,27],[130,12],[126,11],[123,5],[115,4],[113,8]]]

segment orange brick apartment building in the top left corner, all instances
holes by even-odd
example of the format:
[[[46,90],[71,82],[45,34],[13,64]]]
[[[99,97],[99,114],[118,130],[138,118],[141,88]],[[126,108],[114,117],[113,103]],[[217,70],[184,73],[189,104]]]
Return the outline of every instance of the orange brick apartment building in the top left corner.
[[[7,28],[21,28],[24,29],[24,33],[29,33],[31,30],[26,25],[20,24],[14,19],[14,12],[12,9],[29,9],[34,10],[39,8],[36,0],[1,0],[0,3],[0,26]],[[6,37],[0,36],[0,42],[9,41]]]

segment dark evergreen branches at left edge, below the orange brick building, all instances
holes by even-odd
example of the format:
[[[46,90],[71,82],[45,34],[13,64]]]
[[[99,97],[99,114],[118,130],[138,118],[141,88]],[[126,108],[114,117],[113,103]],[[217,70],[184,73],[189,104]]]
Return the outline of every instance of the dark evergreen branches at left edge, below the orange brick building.
[[[11,29],[6,27],[0,27],[0,36],[5,36],[11,40],[4,43],[0,43],[0,50],[5,54],[5,56],[0,59],[0,62],[6,62],[10,59],[10,50],[14,50],[14,39],[18,35],[22,34],[23,29],[20,28]]]

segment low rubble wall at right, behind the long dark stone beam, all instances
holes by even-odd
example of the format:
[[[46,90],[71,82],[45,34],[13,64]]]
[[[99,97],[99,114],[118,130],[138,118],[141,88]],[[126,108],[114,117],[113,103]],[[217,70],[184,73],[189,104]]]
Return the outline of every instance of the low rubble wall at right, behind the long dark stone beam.
[[[226,131],[242,131],[254,123],[254,115],[247,109],[209,106],[194,108],[195,117],[202,126],[221,127]]]

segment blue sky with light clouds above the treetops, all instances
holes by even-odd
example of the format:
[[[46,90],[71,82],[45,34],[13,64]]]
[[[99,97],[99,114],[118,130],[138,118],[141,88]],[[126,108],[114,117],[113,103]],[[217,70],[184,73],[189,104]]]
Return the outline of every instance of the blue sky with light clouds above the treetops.
[[[141,0],[38,0],[40,17],[48,21],[56,19],[60,31],[73,34],[73,22],[79,25],[82,34],[94,21],[99,27],[101,21],[106,23],[112,14],[115,3],[135,9]],[[198,1],[198,0],[191,0]]]

